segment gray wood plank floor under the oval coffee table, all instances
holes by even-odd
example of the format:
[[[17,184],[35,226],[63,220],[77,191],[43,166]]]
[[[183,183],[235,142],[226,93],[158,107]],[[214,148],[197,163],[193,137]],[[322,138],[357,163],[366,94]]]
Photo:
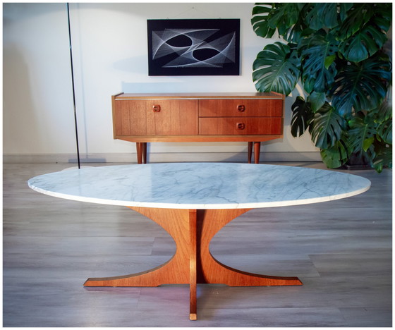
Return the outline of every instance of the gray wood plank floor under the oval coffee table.
[[[304,285],[199,285],[192,322],[188,286],[83,287],[88,277],[156,267],[175,246],[157,224],[126,207],[61,200],[26,184],[70,166],[4,164],[4,326],[392,325],[392,171],[353,171],[372,181],[362,195],[254,209],[233,220],[212,240],[219,261],[298,276]]]

